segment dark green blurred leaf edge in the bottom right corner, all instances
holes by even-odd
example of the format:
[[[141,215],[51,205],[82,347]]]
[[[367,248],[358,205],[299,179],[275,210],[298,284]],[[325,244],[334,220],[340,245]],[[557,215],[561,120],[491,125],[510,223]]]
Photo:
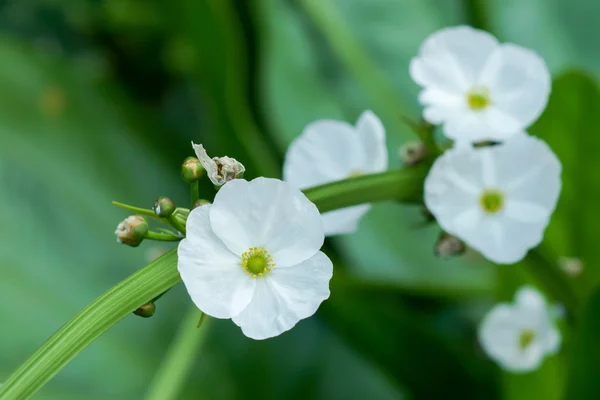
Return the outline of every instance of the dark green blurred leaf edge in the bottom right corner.
[[[600,364],[600,291],[590,298],[573,341],[569,362],[569,380],[565,399],[597,399],[598,365]]]

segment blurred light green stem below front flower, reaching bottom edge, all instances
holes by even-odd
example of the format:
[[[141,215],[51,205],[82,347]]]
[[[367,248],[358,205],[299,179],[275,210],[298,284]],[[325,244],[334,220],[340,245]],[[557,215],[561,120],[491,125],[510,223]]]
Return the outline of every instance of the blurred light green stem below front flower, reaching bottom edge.
[[[171,400],[179,398],[198,350],[206,338],[207,326],[196,328],[204,314],[196,307],[185,315],[177,336],[146,394],[146,400]]]

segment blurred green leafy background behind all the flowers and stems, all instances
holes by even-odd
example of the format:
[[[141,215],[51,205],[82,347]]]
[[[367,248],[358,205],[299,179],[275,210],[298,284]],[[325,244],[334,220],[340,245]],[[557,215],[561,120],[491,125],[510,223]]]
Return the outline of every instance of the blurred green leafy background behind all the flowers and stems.
[[[242,161],[248,177],[278,177],[307,123],[372,109],[398,167],[398,147],[414,139],[402,117],[420,113],[408,62],[427,35],[456,24],[534,49],[558,79],[532,133],[564,164],[546,242],[551,257],[584,260],[582,276],[564,279],[585,301],[600,277],[599,15],[596,0],[0,2],[0,381],[169,248],[118,245],[127,214],[111,200],[187,205],[179,165],[191,140]],[[526,265],[435,258],[439,231],[423,222],[419,207],[377,204],[358,232],[329,241],[331,299],[280,337],[255,342],[212,321],[179,398],[559,399],[569,376],[583,379],[570,398],[589,396],[597,364],[585,343],[600,328],[584,317],[585,332],[572,341],[565,326],[564,351],[542,369],[502,373],[477,324],[536,282]],[[36,398],[144,398],[190,305],[177,286],[153,318],[126,318]]]

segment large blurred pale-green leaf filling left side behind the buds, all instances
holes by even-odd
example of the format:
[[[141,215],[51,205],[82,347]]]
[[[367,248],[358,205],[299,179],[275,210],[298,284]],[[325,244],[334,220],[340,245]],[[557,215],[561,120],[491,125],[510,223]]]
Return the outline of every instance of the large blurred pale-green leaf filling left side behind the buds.
[[[161,251],[116,243],[114,229],[127,215],[111,200],[144,204],[182,193],[178,174],[164,172],[161,158],[136,139],[139,125],[124,116],[132,110],[118,93],[6,38],[0,56],[7,94],[0,98],[0,301],[11,305],[0,309],[10,324],[2,331],[1,381],[93,298]],[[176,299],[167,296],[159,309]],[[48,397],[136,397],[160,355],[145,349],[160,342],[159,322],[176,315],[126,319],[59,374]],[[110,374],[115,364],[119,373]]]

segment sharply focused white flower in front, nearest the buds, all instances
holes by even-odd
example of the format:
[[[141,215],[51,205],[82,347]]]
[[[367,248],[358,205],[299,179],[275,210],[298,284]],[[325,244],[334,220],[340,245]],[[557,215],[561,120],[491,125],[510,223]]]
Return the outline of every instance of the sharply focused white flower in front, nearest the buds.
[[[333,265],[319,211],[277,179],[235,179],[195,208],[178,269],[198,308],[253,339],[291,329],[329,297]]]

